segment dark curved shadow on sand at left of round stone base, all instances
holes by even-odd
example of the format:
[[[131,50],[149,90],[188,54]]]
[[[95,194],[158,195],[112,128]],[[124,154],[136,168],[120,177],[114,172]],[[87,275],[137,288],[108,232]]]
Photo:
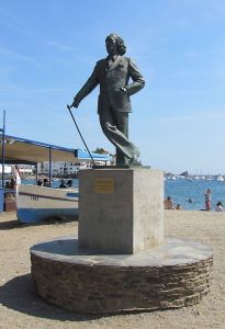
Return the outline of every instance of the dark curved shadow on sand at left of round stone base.
[[[47,304],[36,295],[31,274],[16,276],[1,286],[0,304],[30,316],[61,321],[89,321],[101,318],[101,316],[77,314]]]

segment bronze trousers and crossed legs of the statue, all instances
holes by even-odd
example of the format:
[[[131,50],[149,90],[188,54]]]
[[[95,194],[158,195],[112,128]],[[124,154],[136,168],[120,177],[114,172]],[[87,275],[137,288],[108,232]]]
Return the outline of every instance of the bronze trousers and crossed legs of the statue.
[[[128,140],[128,113],[105,106],[99,114],[100,124],[106,138],[116,148],[116,164],[127,164],[128,159],[139,156],[137,147]]]

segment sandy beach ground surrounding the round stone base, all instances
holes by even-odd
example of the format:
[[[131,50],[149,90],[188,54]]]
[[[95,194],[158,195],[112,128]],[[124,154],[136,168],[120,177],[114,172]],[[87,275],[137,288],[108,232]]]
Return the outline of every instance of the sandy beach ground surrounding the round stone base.
[[[211,293],[200,304],[160,311],[87,316],[47,304],[35,295],[30,248],[71,235],[77,222],[22,225],[15,213],[0,215],[0,328],[225,328],[225,213],[165,212],[165,236],[211,246],[214,271]]]

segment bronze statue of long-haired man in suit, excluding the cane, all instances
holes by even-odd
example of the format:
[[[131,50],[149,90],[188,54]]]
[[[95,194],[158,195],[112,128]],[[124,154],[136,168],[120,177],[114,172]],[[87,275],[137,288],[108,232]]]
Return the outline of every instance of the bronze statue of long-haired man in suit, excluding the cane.
[[[95,64],[92,75],[76,94],[70,107],[78,107],[82,99],[100,84],[100,124],[116,148],[116,166],[124,166],[133,163],[139,156],[137,147],[128,140],[128,113],[132,112],[130,97],[145,86],[145,80],[134,61],[123,56],[126,46],[119,35],[110,34],[105,46],[109,56]],[[130,78],[133,80],[131,83]]]

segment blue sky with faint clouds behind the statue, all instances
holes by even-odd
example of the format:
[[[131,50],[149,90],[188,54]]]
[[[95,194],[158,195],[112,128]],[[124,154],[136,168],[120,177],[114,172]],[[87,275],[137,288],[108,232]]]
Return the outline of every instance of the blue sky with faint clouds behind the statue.
[[[114,32],[146,79],[130,115],[143,164],[225,174],[224,0],[1,0],[0,31],[7,134],[83,148],[66,104]],[[113,152],[97,98],[98,88],[74,114],[91,150]]]

